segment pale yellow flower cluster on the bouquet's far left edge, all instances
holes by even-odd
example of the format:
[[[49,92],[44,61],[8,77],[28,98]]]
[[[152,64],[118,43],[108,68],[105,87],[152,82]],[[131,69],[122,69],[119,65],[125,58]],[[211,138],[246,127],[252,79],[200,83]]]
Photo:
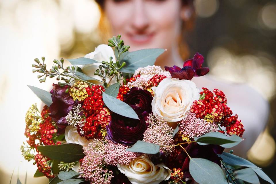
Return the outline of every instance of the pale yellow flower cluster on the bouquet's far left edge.
[[[37,109],[37,104],[32,104],[28,109],[25,116],[25,122],[31,132],[37,132],[39,130],[41,117],[39,115],[39,110]]]

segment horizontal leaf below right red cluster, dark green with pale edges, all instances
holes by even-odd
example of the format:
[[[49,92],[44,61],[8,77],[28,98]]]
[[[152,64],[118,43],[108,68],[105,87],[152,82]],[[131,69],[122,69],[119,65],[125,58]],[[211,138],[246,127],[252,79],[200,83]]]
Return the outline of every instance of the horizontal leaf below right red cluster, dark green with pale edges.
[[[237,135],[228,137],[220,132],[206,133],[200,137],[194,137],[194,140],[200,145],[215,144],[226,148],[233,147],[242,141]]]

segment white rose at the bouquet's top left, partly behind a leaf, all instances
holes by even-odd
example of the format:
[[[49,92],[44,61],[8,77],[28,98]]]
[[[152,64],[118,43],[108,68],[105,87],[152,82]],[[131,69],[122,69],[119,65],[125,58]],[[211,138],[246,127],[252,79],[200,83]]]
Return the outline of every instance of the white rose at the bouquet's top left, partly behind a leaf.
[[[85,73],[90,77],[96,78],[98,80],[102,80],[102,78],[100,76],[94,75],[94,73],[98,69],[98,66],[101,65],[101,62],[102,61],[109,62],[110,57],[112,57],[113,62],[116,62],[113,49],[106,44],[98,45],[98,47],[95,48],[95,51],[89,54],[86,54],[84,57],[87,57],[89,59],[93,59],[99,62],[99,63],[85,64],[85,65],[79,66],[82,69],[83,73]],[[108,79],[107,79],[107,82],[109,82]]]

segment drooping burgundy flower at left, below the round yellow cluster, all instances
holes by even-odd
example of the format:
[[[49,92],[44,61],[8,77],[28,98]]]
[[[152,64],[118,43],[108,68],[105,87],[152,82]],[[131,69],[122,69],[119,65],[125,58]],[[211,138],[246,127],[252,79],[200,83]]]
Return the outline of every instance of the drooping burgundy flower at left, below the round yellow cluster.
[[[53,84],[53,89],[50,91],[52,94],[53,103],[50,105],[50,117],[57,124],[57,133],[64,133],[65,127],[68,125],[65,116],[72,110],[72,107],[78,104],[78,101],[74,101],[69,93],[65,93],[69,86],[60,87],[57,84]]]

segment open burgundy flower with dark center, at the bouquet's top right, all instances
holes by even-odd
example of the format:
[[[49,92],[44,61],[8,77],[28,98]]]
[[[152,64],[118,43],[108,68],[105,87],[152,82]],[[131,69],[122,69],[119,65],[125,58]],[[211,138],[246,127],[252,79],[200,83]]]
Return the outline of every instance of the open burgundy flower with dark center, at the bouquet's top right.
[[[208,67],[202,67],[204,57],[200,53],[196,53],[193,59],[184,62],[183,68],[178,66],[168,67],[165,70],[169,71],[172,78],[191,80],[193,77],[204,76],[209,72]]]

